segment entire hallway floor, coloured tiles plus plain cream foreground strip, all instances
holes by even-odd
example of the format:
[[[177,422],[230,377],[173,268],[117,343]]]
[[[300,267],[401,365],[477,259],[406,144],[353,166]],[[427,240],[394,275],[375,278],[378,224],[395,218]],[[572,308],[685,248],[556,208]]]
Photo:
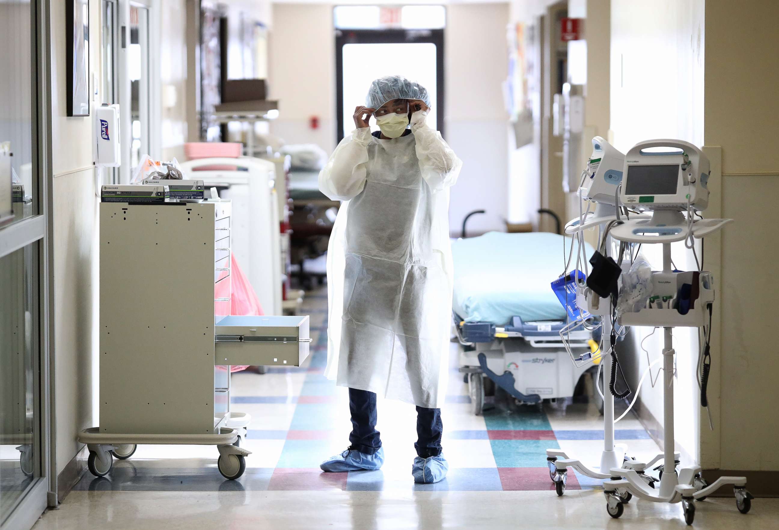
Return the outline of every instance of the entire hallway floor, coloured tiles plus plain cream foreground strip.
[[[379,471],[324,473],[319,463],[348,444],[348,396],[323,376],[327,358],[326,288],[307,293],[302,314],[311,317],[312,353],[301,367],[255,367],[233,374],[232,410],[252,415],[241,447],[252,451],[246,472],[224,480],[209,446],[140,445],[132,458],[115,459],[107,476],[82,476],[57,510],[33,528],[679,528],[679,504],[635,501],[621,520],[604,510],[594,479],[569,476],[555,494],[545,466],[548,448],[600,455],[603,423],[594,405],[509,406],[497,398],[484,416],[471,412],[467,384],[457,371],[456,343],[444,425],[446,479],[416,484],[414,408],[379,400],[386,460]],[[569,400],[570,401],[570,400]],[[624,405],[615,407],[621,414]],[[651,458],[659,448],[630,412],[617,423],[618,443],[629,455]],[[655,474],[657,472],[652,472]],[[726,493],[727,494],[727,493]],[[745,518],[732,497],[710,498],[700,528],[775,528],[779,500],[760,500]],[[647,519],[648,518],[648,519]],[[698,522],[700,521],[700,523]],[[608,526],[607,526],[607,523]]]

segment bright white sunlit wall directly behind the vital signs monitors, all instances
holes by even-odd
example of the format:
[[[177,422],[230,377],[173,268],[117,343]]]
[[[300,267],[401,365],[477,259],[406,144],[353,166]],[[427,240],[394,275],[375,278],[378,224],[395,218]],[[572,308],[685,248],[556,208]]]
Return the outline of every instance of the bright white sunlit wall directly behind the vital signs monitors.
[[[612,0],[610,121],[612,144],[622,153],[636,142],[653,138],[703,145],[703,3]],[[661,252],[661,245],[642,247],[654,269],[662,268]],[[679,268],[695,267],[692,253],[682,243],[674,244],[671,253]],[[651,332],[652,328],[634,327],[633,343],[622,344],[620,360],[634,386],[647,368],[647,353],[640,349],[640,341],[646,339],[643,346],[651,360],[661,354],[662,335]],[[674,346],[678,370],[675,416],[679,419],[675,439],[688,464],[700,461],[695,332],[675,329]],[[657,365],[651,374],[657,377]],[[640,398],[643,407],[662,422],[662,384],[652,387],[645,381]]]

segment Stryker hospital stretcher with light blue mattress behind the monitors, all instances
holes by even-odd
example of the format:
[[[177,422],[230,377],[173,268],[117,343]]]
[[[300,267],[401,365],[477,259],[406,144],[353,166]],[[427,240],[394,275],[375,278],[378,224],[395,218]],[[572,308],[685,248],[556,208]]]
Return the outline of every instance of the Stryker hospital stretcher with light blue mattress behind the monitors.
[[[570,362],[559,335],[566,311],[550,283],[565,265],[561,250],[569,241],[545,232],[453,241],[454,327],[474,414],[483,410],[485,383],[518,402],[540,403],[572,397],[585,388],[585,377],[596,377],[597,367]],[[568,339],[572,349],[597,349],[590,332],[571,332]]]

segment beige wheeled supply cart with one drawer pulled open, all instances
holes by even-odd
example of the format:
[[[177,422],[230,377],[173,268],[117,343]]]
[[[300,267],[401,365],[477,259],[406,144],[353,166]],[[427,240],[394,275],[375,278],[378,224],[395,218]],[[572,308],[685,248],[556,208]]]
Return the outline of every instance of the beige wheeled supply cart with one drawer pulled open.
[[[79,434],[90,472],[136,444],[203,444],[237,479],[249,415],[231,412],[217,367],[300,366],[308,317],[229,316],[231,202],[128,200],[100,203],[100,426]]]

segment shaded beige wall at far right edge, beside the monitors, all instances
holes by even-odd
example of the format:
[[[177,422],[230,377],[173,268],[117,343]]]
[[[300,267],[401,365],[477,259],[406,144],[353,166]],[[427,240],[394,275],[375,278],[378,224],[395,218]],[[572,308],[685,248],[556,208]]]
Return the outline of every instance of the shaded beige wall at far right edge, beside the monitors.
[[[707,451],[721,469],[779,470],[777,14],[765,0],[706,2],[703,139],[722,148],[722,216],[735,219],[721,237],[720,436]]]

